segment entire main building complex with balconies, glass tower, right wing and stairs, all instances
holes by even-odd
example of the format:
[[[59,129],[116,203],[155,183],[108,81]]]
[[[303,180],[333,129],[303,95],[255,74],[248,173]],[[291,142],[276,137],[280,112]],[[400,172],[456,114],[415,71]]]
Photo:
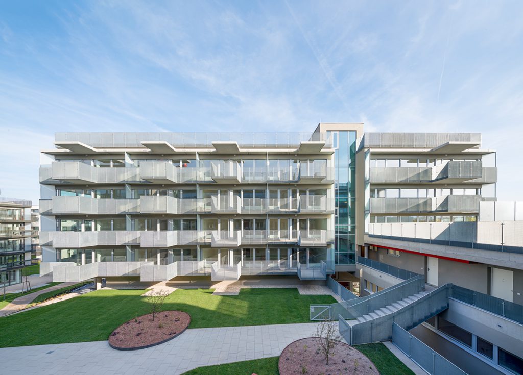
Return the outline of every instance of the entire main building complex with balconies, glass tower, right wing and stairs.
[[[463,373],[438,351],[469,373],[519,374],[523,206],[496,201],[496,154],[481,143],[363,124],[58,133],[42,151],[41,274],[327,280],[347,300],[311,319],[338,319],[349,344],[401,336],[430,373]]]

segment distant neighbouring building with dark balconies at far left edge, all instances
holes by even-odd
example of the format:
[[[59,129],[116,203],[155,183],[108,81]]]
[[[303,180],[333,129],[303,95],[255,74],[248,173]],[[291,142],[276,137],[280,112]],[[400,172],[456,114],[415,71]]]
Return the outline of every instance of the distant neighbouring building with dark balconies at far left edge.
[[[22,282],[31,263],[31,201],[0,198],[0,283]]]

